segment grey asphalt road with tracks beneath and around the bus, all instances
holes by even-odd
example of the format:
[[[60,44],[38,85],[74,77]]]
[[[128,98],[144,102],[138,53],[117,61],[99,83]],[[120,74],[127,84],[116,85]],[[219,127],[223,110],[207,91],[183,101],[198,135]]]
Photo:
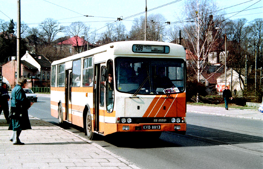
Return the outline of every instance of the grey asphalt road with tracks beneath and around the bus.
[[[29,115],[58,125],[50,115],[50,98],[38,96]],[[262,169],[263,123],[214,115],[187,113],[186,135],[163,132],[159,139],[136,135],[98,137],[95,143],[140,168]],[[72,124],[63,128],[87,138]]]

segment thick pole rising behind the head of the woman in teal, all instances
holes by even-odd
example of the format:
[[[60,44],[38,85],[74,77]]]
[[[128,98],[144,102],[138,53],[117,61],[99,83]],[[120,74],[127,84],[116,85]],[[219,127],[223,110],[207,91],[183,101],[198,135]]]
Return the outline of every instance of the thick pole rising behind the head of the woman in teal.
[[[16,68],[17,78],[21,78],[21,58],[20,58],[20,0],[17,0],[17,40],[16,40]]]

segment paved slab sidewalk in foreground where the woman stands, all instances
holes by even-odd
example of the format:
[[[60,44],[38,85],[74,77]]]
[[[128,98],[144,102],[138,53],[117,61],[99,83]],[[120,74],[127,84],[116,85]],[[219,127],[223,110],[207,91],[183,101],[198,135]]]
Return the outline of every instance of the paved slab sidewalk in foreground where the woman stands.
[[[0,116],[0,168],[137,169],[138,167],[90,140],[30,117],[31,130],[22,131],[25,145],[9,141],[12,131]]]

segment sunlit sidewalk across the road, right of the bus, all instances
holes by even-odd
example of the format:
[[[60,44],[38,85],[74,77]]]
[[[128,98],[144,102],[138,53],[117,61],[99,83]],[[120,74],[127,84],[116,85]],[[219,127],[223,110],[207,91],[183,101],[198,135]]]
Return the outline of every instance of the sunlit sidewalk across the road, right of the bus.
[[[222,107],[186,105],[186,111],[193,113],[227,116],[227,117],[263,120],[263,113],[259,112],[257,108],[251,108],[251,109],[228,108],[228,110],[225,110],[225,108]]]

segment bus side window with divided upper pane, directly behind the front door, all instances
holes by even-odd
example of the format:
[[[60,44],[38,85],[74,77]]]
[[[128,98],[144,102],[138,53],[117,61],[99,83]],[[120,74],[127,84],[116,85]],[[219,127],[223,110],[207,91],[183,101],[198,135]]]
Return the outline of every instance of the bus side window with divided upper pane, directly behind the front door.
[[[93,57],[84,59],[82,86],[93,86]]]

